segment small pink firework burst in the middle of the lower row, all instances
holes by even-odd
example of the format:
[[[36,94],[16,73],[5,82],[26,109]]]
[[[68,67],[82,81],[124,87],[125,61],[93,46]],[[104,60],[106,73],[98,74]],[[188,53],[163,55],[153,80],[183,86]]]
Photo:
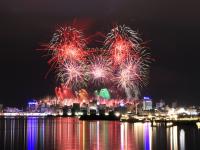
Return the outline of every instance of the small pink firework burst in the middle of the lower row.
[[[113,76],[111,62],[106,57],[95,57],[88,68],[88,75],[94,83],[107,83]]]

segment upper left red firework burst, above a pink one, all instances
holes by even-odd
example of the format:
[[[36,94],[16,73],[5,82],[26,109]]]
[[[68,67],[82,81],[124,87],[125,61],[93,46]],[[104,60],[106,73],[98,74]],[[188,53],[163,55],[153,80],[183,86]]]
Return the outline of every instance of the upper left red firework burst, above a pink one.
[[[61,27],[53,34],[48,45],[52,58],[49,63],[83,61],[86,56],[86,41],[81,31],[73,27]]]

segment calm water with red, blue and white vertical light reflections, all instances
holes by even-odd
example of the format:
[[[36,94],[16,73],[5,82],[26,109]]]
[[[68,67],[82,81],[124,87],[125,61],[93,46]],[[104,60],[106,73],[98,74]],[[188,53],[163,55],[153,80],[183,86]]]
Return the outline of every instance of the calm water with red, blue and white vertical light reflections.
[[[0,149],[200,150],[200,130],[76,118],[1,118]]]

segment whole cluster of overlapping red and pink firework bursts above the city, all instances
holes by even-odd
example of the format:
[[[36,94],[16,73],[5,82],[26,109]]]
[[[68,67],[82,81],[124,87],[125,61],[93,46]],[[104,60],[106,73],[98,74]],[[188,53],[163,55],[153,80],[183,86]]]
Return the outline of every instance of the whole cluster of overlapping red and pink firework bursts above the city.
[[[72,89],[88,82],[109,83],[124,90],[128,99],[138,98],[140,88],[147,84],[151,62],[141,41],[129,27],[116,26],[107,34],[104,48],[89,50],[81,31],[61,27],[48,44],[49,63],[55,66],[59,80]]]

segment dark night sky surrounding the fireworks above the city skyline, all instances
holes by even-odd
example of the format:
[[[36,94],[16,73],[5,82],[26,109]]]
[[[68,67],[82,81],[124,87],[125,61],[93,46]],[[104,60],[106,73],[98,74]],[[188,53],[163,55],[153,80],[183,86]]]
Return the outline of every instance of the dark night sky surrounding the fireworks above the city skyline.
[[[36,51],[57,25],[90,22],[87,32],[107,33],[113,23],[139,31],[155,62],[143,94],[200,104],[200,2],[188,0],[0,1],[0,103],[24,105],[53,94],[54,74]]]

